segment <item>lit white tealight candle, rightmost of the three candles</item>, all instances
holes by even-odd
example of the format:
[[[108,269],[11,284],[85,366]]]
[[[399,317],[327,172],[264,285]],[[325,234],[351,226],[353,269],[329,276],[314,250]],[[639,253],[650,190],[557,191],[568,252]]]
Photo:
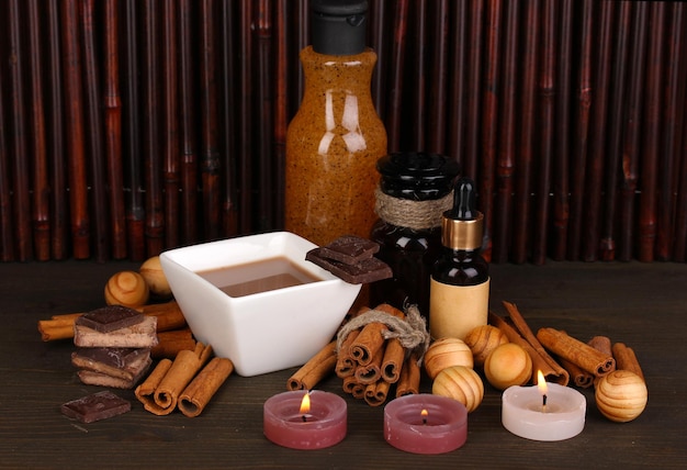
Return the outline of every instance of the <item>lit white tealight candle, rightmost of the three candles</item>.
[[[585,426],[587,401],[570,387],[547,383],[510,387],[503,394],[502,423],[516,436],[532,440],[563,440]]]

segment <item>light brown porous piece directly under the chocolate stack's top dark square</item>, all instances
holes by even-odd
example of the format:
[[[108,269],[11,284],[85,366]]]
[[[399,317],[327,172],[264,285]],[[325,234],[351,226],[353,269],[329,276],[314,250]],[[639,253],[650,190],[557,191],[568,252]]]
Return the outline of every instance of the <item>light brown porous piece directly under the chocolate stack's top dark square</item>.
[[[80,347],[151,348],[157,346],[157,318],[142,315],[143,321],[132,326],[101,333],[88,326],[74,324],[74,344]]]

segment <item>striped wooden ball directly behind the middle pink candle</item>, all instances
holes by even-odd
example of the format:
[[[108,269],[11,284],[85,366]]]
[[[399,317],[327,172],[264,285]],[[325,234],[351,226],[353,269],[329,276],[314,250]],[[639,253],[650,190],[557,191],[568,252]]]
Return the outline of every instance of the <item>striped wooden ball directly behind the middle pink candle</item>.
[[[470,367],[452,366],[439,372],[432,382],[431,393],[458,400],[465,405],[468,413],[472,413],[484,399],[484,383]]]

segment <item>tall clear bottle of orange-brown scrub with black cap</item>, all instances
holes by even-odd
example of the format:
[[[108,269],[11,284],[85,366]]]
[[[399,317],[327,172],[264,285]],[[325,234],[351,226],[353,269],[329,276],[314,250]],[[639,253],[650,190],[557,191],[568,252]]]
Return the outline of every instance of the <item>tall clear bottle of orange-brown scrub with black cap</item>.
[[[286,133],[284,224],[325,245],[369,236],[386,130],[370,93],[376,54],[364,45],[368,2],[311,4],[313,43],[301,52],[305,90]]]

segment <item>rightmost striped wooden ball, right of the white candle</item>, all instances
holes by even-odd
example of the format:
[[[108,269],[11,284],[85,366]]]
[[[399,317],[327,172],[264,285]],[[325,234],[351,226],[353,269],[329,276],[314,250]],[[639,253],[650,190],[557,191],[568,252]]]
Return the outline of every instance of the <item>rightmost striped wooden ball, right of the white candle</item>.
[[[649,398],[642,378],[629,370],[615,370],[601,377],[594,395],[599,412],[616,423],[627,423],[642,414]]]

